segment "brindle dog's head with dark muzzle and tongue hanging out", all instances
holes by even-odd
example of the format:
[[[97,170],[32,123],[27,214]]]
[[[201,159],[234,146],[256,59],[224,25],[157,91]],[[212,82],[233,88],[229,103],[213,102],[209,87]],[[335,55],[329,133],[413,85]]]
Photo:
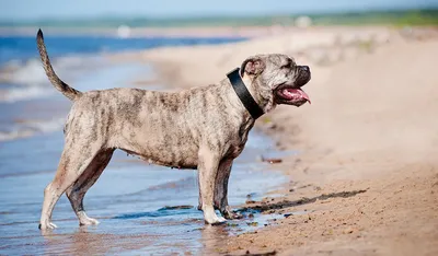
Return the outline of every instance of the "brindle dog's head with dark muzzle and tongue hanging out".
[[[247,75],[245,80],[249,79],[256,93],[272,106],[310,103],[308,94],[301,90],[310,81],[310,69],[298,66],[289,56],[253,56],[243,61],[240,72],[242,78]]]

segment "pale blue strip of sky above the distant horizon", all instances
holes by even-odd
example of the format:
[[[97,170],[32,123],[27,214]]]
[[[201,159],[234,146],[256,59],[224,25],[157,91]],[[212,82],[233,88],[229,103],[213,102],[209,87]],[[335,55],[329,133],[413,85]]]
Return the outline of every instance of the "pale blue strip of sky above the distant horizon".
[[[0,0],[0,20],[208,16],[438,7],[438,0]]]

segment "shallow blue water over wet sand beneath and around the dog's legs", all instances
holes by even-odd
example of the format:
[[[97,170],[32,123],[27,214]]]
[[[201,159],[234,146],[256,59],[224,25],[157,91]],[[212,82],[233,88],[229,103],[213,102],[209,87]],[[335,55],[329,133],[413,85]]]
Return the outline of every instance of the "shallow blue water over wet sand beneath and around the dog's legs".
[[[254,137],[260,139],[260,135],[253,133]],[[78,226],[76,216],[62,196],[54,211],[54,222],[59,228],[42,235],[37,225],[43,189],[54,176],[56,154],[62,144],[59,138],[61,135],[22,140],[38,149],[33,154],[42,163],[45,162],[45,166],[32,173],[12,174],[0,179],[0,254],[198,253],[204,248],[205,240],[211,240],[216,232],[233,235],[256,229],[247,226],[249,221],[256,221],[260,225],[263,223],[263,218],[256,214],[252,220],[233,221],[238,226],[205,226],[203,213],[196,209],[196,171],[127,162],[131,158],[118,151],[100,181],[90,189],[84,202],[88,213],[97,218],[101,224]],[[42,152],[43,144],[54,150]],[[264,168],[269,167],[267,164],[255,162],[255,149],[263,153],[269,147],[260,149],[258,144],[249,143],[249,148],[254,151],[242,153],[233,166],[229,188],[230,205],[243,203],[246,195],[263,195],[287,182],[280,173],[264,172]],[[46,159],[39,159],[43,154],[46,154]],[[10,156],[20,159],[20,155]],[[15,164],[9,163],[8,166],[26,168],[32,167],[31,162],[26,159]],[[168,209],[182,205],[187,207]]]

